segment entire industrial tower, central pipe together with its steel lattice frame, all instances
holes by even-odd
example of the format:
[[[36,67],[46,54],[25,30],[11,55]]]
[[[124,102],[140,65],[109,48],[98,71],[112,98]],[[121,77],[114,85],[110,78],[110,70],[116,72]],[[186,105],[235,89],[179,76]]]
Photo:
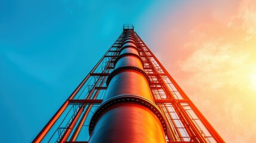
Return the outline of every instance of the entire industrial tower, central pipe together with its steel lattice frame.
[[[224,142],[134,26],[123,29],[33,142]]]

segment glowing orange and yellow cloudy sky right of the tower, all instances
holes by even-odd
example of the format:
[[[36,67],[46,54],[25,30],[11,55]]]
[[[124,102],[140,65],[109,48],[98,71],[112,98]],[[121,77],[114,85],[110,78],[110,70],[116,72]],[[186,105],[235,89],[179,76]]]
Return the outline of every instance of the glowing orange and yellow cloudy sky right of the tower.
[[[153,32],[153,46],[226,142],[255,142],[256,3],[222,2],[203,8],[193,2],[175,20],[166,20],[166,13],[162,28]]]

